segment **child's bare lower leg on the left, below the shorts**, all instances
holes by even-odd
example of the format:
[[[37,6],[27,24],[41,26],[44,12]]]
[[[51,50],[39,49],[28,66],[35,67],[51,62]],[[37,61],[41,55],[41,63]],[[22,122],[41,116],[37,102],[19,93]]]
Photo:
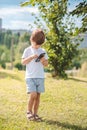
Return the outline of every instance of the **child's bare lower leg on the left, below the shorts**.
[[[28,111],[32,113],[32,109],[33,109],[33,105],[34,105],[34,101],[37,97],[37,93],[36,92],[32,92],[30,93],[30,98],[29,98],[29,102],[28,102]]]

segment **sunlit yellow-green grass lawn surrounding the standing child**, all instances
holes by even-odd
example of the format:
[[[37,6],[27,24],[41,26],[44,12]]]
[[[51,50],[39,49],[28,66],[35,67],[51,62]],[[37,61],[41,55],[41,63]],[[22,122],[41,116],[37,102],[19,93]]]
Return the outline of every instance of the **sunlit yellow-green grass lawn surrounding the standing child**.
[[[87,130],[87,79],[46,76],[42,122],[28,121],[24,72],[0,70],[0,130]]]

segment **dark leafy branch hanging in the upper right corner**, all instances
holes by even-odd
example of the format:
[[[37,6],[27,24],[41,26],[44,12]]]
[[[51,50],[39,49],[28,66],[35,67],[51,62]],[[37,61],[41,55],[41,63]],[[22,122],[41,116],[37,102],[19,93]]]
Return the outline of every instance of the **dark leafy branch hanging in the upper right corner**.
[[[82,16],[82,27],[80,32],[87,31],[87,1],[83,0],[80,2],[76,8],[71,12],[72,15],[77,15],[78,17]]]

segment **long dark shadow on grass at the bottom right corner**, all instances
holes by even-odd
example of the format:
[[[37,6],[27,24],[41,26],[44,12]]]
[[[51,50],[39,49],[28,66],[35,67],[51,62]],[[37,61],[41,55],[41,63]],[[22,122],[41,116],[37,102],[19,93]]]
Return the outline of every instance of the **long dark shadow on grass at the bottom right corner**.
[[[72,129],[72,130],[87,130],[87,127],[82,128],[81,126],[77,126],[74,124],[69,124],[68,122],[61,123],[59,121],[53,121],[53,120],[44,120],[49,125],[56,125],[58,127],[66,128],[66,129]]]

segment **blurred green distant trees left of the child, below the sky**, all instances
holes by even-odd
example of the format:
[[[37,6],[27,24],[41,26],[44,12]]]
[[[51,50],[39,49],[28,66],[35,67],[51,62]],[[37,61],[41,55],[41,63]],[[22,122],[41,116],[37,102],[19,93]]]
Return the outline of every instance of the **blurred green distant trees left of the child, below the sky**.
[[[0,62],[21,62],[23,50],[30,44],[29,37],[30,32],[0,31]]]

